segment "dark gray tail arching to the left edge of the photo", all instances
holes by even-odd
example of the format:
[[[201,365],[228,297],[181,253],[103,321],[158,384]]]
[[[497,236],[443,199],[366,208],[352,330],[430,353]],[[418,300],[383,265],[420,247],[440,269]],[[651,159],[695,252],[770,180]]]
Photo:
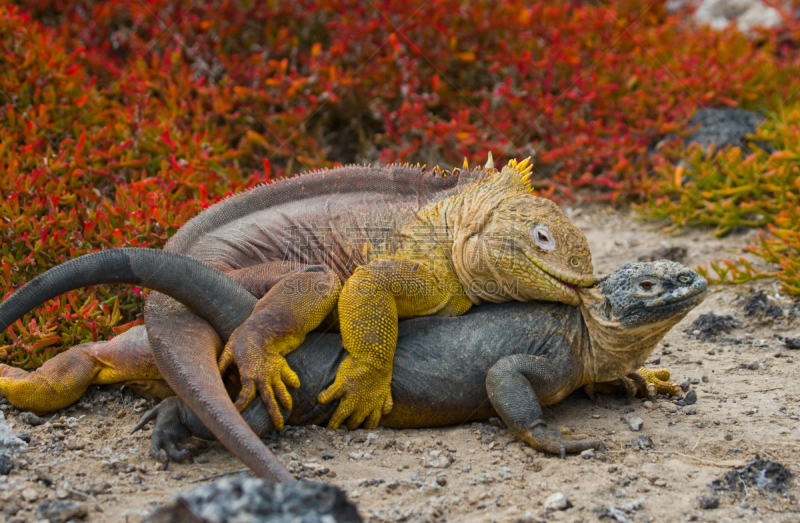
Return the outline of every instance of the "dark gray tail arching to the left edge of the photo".
[[[101,283],[130,283],[178,300],[223,340],[253,312],[256,298],[217,269],[157,249],[99,251],[62,263],[23,285],[0,305],[0,331],[65,292]]]

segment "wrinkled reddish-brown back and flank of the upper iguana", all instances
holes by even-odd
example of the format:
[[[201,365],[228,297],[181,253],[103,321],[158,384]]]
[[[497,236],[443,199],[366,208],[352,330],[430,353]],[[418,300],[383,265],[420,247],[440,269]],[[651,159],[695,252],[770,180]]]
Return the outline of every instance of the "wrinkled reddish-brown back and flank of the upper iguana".
[[[411,165],[312,171],[213,205],[181,227],[164,250],[223,271],[288,259],[327,262],[345,280],[361,243],[351,240],[374,235],[365,226],[393,228],[398,219],[451,192],[458,179],[457,172]]]

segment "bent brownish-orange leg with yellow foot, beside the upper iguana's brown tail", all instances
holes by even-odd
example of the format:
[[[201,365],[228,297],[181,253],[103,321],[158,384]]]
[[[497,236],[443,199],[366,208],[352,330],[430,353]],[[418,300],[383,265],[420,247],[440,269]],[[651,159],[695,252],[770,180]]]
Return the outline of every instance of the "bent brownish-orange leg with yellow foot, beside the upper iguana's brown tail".
[[[243,411],[260,392],[278,429],[283,416],[278,402],[292,408],[286,386],[300,380],[284,356],[300,346],[306,334],[330,314],[341,292],[339,278],[327,267],[307,266],[275,283],[256,304],[249,318],[231,335],[219,360],[224,371],[236,363],[242,391],[236,408]],[[277,398],[277,401],[276,401]]]

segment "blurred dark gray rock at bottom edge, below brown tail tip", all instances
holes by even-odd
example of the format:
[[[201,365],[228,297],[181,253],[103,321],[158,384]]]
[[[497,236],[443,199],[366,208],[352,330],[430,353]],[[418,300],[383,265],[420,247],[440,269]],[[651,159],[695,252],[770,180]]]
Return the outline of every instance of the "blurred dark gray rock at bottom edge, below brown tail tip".
[[[148,523],[360,523],[355,505],[338,487],[300,481],[271,487],[262,479],[234,476],[178,494]]]

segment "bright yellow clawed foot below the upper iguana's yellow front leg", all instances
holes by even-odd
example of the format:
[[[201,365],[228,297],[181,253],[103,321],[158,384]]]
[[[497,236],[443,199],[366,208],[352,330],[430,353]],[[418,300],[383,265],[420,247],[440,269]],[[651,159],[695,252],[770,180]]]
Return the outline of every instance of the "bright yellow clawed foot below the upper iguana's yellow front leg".
[[[381,415],[385,416],[392,410],[391,383],[391,369],[388,372],[368,369],[347,356],[333,385],[317,397],[320,403],[341,398],[328,428],[336,430],[345,421],[350,430],[358,428],[361,423],[365,429],[377,427]]]

